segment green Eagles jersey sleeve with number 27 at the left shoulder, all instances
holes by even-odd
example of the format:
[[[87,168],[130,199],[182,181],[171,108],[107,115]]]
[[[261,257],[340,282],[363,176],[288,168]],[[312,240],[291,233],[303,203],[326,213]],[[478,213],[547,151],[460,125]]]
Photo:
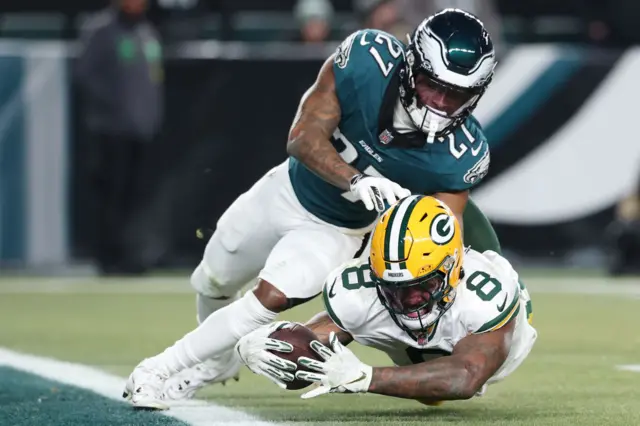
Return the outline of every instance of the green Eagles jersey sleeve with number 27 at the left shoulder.
[[[382,90],[403,53],[404,46],[397,38],[370,29],[352,33],[338,46],[333,74],[343,115],[356,112],[358,102],[354,100],[358,97]]]

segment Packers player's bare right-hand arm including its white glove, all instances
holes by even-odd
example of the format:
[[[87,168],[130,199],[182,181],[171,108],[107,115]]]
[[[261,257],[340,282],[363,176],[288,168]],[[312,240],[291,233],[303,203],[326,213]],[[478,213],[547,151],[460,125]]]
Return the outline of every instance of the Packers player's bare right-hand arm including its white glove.
[[[303,394],[303,399],[333,392],[370,392],[423,403],[469,399],[507,359],[514,328],[512,319],[493,331],[465,337],[450,356],[406,367],[364,364],[331,333],[331,349],[317,341],[310,343],[324,361],[298,358],[309,371],[298,370],[296,378],[322,384]]]

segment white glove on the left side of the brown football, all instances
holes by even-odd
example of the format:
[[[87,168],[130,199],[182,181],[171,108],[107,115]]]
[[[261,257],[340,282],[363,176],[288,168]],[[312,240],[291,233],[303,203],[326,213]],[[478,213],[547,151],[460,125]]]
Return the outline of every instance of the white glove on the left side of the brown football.
[[[271,339],[269,335],[278,328],[290,327],[293,324],[288,321],[277,321],[265,325],[243,336],[235,347],[240,360],[249,370],[265,376],[282,389],[287,387],[286,382],[293,381],[292,372],[296,370],[297,365],[268,352],[268,350],[290,353],[293,351],[293,346],[282,340]]]

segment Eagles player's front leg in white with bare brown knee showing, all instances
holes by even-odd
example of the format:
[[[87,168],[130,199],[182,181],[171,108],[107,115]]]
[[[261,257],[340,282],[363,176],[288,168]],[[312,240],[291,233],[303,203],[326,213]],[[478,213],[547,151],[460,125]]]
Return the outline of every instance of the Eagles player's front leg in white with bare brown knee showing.
[[[156,375],[170,375],[227,353],[240,337],[319,294],[329,272],[353,257],[361,242],[362,237],[313,223],[287,233],[270,253],[252,291],[211,314],[148,365]],[[141,403],[145,401],[138,400]]]

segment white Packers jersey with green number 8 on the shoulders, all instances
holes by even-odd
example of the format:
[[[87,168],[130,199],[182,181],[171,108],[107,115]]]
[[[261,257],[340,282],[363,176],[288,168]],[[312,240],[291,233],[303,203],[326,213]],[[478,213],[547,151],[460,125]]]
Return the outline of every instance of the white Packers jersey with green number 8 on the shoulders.
[[[419,341],[398,327],[380,302],[367,257],[346,263],[329,276],[324,303],[336,325],[355,341],[386,352],[399,366],[450,355],[464,337],[496,330],[515,317],[508,358],[488,381],[494,383],[511,374],[533,347],[537,333],[528,321],[531,300],[511,264],[496,252],[469,249],[463,267],[453,304]]]

